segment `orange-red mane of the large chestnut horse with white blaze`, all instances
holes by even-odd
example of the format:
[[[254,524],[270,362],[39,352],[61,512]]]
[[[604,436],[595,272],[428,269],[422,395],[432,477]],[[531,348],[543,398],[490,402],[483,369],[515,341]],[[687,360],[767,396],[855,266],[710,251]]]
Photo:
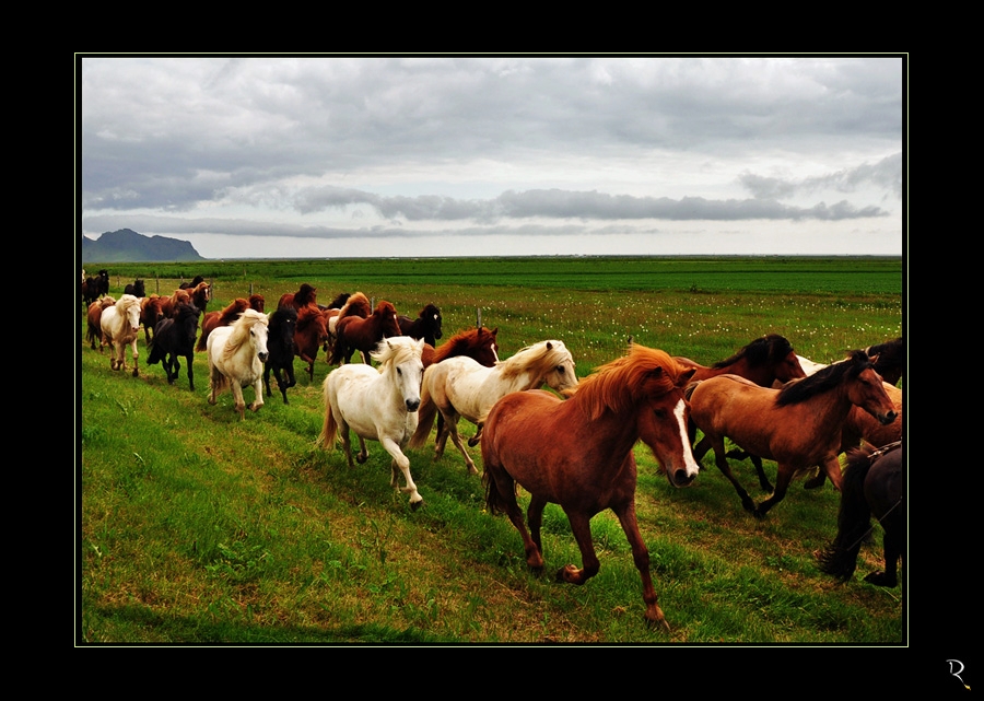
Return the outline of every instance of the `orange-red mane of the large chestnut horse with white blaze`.
[[[569,401],[582,405],[588,419],[599,419],[606,410],[623,413],[639,401],[641,396],[670,392],[677,376],[686,370],[669,353],[633,343],[629,354],[596,367],[583,377],[577,392]]]

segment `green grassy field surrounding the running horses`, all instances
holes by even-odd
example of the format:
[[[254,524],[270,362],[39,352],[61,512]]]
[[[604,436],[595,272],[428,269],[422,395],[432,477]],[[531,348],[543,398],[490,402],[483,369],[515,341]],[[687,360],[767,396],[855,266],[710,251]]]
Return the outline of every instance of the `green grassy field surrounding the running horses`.
[[[710,364],[766,334],[818,362],[903,332],[902,261],[881,258],[577,258],[204,261],[86,266],[112,294],[142,277],[171,293],[203,274],[218,309],[258,292],[268,311],[301,282],[327,301],[365,292],[415,316],[442,308],[445,334],[499,327],[501,355],[555,338],[578,375],[623,353],[629,337]],[[80,305],[81,306],[81,305]],[[84,319],[82,322],[84,339]],[[79,641],[83,643],[786,643],[901,645],[903,585],[859,581],[880,569],[866,546],[854,582],[823,576],[837,494],[789,494],[763,521],[741,510],[707,456],[693,487],[671,488],[637,448],[637,510],[670,633],[642,617],[639,574],[617,519],[593,519],[601,571],[583,587],[536,577],[508,521],[484,510],[481,483],[453,449],[410,451],[427,505],[389,488],[370,443],[354,469],[315,445],[324,408],[318,359],[291,404],[274,396],[243,422],[229,394],[206,402],[183,371],[109,370],[80,343],[78,390]],[[298,366],[300,370],[300,366]],[[246,390],[247,401],[251,390]],[[461,430],[470,434],[469,427]],[[479,468],[478,451],[472,452]],[[384,459],[385,458],[385,459]],[[736,464],[762,499],[750,464]],[[774,477],[775,466],[766,462]],[[579,554],[566,518],[544,515],[547,572]]]

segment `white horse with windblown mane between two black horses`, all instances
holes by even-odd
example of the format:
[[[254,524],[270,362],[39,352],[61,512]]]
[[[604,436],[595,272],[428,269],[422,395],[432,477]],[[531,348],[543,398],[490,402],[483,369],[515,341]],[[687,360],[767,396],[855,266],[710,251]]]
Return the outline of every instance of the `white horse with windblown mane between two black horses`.
[[[246,309],[232,326],[220,326],[209,334],[209,404],[226,387],[232,389],[239,420],[246,418],[243,387],[253,385],[256,399],[250,411],[263,406],[263,363],[267,361],[269,319],[256,309]]]

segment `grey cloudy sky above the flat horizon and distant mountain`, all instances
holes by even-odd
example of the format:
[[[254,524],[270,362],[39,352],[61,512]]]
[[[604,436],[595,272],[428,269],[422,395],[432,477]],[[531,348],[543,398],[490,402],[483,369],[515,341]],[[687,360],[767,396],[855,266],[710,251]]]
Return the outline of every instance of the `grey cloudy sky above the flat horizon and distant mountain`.
[[[903,249],[899,57],[80,57],[78,218],[207,258]]]

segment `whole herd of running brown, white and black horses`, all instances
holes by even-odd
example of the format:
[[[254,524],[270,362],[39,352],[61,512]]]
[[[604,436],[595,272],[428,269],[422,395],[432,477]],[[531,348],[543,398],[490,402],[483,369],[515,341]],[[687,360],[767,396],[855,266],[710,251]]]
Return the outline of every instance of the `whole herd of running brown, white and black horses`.
[[[640,571],[649,623],[668,628],[635,515],[633,447],[639,441],[678,488],[694,481],[701,458],[713,449],[715,465],[743,509],[758,518],[783,500],[795,477],[815,472],[806,482],[811,488],[830,479],[841,492],[841,512],[837,537],[820,556],[821,570],[842,581],[852,577],[874,516],[885,528],[886,566],[866,581],[898,584],[905,525],[902,451],[892,446],[902,442],[902,392],[894,386],[904,367],[902,338],[852,351],[830,365],[797,355],[775,334],[706,366],[630,343],[626,354],[578,378],[571,351],[557,339],[502,360],[499,329],[479,325],[438,346],[442,317],[434,304],[417,318],[400,316],[385,300],[374,305],[362,292],[342,293],[323,306],[317,290],[304,283],[282,295],[269,314],[260,295],[207,313],[210,284],[203,280],[168,297],[138,296],[136,292],[143,293],[138,280],[139,287],[134,283],[114,301],[101,288],[104,272],[83,277],[83,300],[86,341],[94,350],[98,343],[99,352],[109,347],[112,370],[127,370],[125,348],[130,346],[133,375],[139,375],[137,335],[142,325],[148,363],[160,362],[169,384],[178,378],[184,358],[194,390],[194,353],[206,352],[209,404],[229,389],[242,420],[244,387],[253,387],[248,408],[257,411],[265,392],[271,396],[272,372],[289,404],[288,389],[296,384],[294,360],[306,363],[313,382],[315,359],[324,350],[326,360],[338,365],[323,384],[325,421],[318,442],[325,449],[340,442],[352,466],[351,433],[360,443],[359,463],[367,459],[365,442],[378,442],[391,457],[390,484],[409,494],[411,507],[418,509],[423,496],[405,451],[423,447],[435,421],[434,459],[450,437],[468,472],[478,475],[458,433],[464,417],[477,429],[468,445],[481,444],[487,506],[493,514],[504,512],[519,531],[527,564],[537,572],[543,568],[542,513],[547,503],[557,503],[582,554],[581,568],[569,564],[557,577],[584,584],[599,569],[590,518],[610,509]],[[101,294],[90,300],[93,288]],[[356,351],[363,362],[353,364]],[[761,488],[770,493],[764,501],[755,503],[749,495],[729,458],[752,462]],[[774,487],[762,469],[763,458],[776,464]],[[517,484],[529,493],[525,522]]]

